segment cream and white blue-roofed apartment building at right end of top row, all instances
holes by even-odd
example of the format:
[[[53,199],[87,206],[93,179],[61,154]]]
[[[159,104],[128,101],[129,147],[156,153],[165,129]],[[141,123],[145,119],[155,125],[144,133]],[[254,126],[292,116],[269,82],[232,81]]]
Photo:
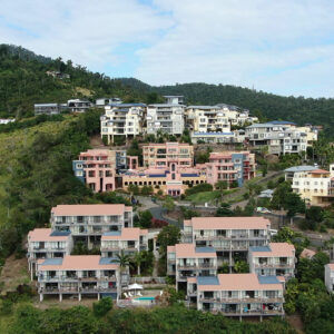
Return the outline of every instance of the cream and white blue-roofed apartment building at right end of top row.
[[[310,140],[311,131],[316,130],[310,129],[306,132],[305,127],[298,128],[293,122],[275,120],[246,127],[246,137],[253,147],[267,146],[269,154],[302,154],[313,143]]]

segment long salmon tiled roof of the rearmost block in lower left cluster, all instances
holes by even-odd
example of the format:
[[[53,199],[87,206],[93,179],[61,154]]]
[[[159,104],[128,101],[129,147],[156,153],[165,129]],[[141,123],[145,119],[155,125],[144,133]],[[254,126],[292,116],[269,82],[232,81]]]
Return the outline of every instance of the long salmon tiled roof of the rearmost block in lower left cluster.
[[[124,212],[124,204],[57,205],[51,209],[55,216],[119,216]]]

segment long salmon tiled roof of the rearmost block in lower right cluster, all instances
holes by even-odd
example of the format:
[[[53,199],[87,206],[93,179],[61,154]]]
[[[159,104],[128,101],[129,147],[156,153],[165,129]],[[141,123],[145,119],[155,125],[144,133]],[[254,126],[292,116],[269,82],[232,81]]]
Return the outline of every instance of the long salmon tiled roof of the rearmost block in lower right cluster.
[[[266,229],[271,222],[264,217],[193,217],[193,229]]]

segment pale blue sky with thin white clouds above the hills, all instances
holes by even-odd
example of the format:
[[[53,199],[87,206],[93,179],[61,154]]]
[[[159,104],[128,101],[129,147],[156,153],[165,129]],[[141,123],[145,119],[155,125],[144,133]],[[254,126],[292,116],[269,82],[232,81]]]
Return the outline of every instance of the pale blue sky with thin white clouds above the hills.
[[[155,86],[334,97],[333,0],[1,0],[0,42]]]

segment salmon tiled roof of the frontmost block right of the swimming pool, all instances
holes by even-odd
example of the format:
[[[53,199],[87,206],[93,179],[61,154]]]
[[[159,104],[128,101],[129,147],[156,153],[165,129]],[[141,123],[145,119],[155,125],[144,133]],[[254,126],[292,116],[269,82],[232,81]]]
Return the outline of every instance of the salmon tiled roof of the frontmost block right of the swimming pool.
[[[198,291],[283,291],[282,283],[279,283],[277,278],[261,282],[256,274],[219,274],[219,285],[202,285],[198,278],[199,277],[197,277]]]

